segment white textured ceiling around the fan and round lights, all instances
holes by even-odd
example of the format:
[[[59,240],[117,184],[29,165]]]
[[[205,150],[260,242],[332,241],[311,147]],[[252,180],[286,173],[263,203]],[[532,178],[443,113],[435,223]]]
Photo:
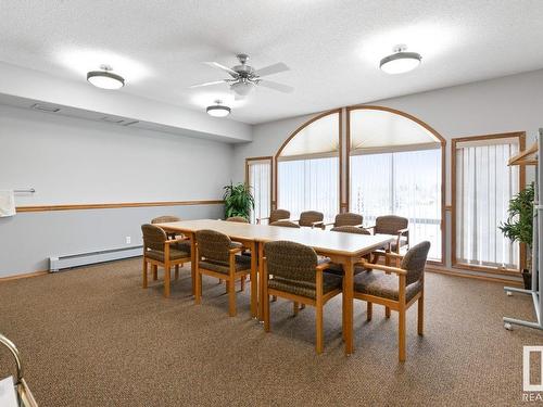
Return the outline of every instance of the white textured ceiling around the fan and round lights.
[[[203,61],[247,52],[290,94],[260,88],[232,119],[263,123],[543,67],[541,0],[0,0],[0,61],[85,81],[109,63],[122,92],[202,110],[227,93]],[[389,76],[379,60],[406,43],[422,65]]]

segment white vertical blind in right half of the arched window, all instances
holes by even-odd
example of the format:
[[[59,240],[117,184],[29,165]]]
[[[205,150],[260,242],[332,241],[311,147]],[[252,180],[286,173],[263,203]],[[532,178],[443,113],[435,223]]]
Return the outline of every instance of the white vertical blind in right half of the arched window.
[[[411,244],[428,240],[429,258],[441,259],[441,150],[352,155],[350,182],[350,208],[365,226],[406,217]]]

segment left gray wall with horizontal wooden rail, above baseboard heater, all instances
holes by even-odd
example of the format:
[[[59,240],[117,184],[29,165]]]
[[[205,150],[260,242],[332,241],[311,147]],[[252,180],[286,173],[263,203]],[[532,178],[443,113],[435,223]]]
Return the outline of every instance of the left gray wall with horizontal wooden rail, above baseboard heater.
[[[219,200],[231,144],[0,105],[0,189],[16,205]],[[142,222],[222,217],[222,205],[20,213],[0,218],[0,277],[51,255],[141,244]],[[126,244],[126,237],[131,243]]]

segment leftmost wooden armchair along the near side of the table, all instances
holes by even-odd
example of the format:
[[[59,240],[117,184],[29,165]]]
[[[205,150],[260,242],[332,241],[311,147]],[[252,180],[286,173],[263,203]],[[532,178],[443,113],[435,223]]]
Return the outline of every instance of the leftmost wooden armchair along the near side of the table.
[[[164,268],[164,296],[169,296],[171,269],[175,266],[175,279],[179,278],[179,265],[190,262],[190,252],[178,249],[188,238],[168,239],[166,232],[155,225],[142,225],[143,233],[143,289],[147,289],[147,272],[150,264],[153,280],[157,279],[159,266]]]

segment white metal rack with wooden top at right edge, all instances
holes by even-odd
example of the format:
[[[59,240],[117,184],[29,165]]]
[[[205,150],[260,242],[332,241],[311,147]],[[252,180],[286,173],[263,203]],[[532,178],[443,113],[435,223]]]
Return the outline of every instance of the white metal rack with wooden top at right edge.
[[[504,317],[504,327],[512,330],[514,325],[543,330],[543,298],[540,295],[543,285],[543,205],[540,196],[543,196],[543,166],[539,165],[539,152],[543,151],[543,128],[540,128],[538,141],[509,160],[509,165],[535,165],[535,185],[533,203],[533,239],[532,239],[532,288],[531,290],[504,287],[507,295],[513,293],[527,294],[532,297],[536,321],[525,321],[522,319]],[[538,156],[535,156],[538,154]]]

